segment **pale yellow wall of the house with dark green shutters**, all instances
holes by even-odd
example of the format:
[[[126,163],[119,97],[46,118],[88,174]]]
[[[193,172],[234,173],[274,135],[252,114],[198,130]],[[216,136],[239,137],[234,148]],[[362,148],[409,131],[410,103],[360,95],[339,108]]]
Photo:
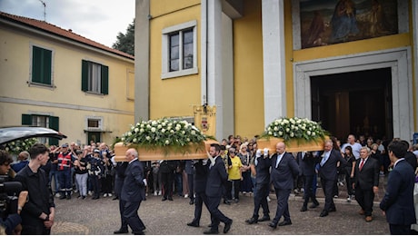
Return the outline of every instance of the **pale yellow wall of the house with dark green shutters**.
[[[0,102],[0,125],[20,125],[22,114],[45,114],[59,117],[59,131],[68,136],[61,143],[86,143],[85,117],[103,117],[102,141],[112,143],[134,123],[134,101],[128,100],[128,74],[134,74],[134,60],[124,61],[95,53],[72,44],[28,34],[24,30],[0,25],[0,97],[19,99],[21,103]],[[29,86],[31,45],[53,50],[55,88]],[[81,91],[82,60],[109,67],[109,94],[95,95]],[[29,103],[35,103],[29,104]],[[53,104],[53,105],[52,105]],[[103,112],[101,109],[106,109]]]

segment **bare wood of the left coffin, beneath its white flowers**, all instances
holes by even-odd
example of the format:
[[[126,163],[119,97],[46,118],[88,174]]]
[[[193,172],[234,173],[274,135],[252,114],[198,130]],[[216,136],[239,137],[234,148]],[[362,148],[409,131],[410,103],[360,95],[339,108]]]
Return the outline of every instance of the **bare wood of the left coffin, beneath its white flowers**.
[[[212,143],[218,143],[214,140],[207,140],[204,143],[191,143],[186,147],[185,151],[175,151],[172,147],[163,148],[145,148],[134,147],[138,151],[138,158],[140,161],[158,161],[158,160],[194,160],[207,158],[207,152]],[[130,148],[124,143],[114,144],[114,161],[125,162],[125,152]],[[206,152],[207,151],[207,152]]]

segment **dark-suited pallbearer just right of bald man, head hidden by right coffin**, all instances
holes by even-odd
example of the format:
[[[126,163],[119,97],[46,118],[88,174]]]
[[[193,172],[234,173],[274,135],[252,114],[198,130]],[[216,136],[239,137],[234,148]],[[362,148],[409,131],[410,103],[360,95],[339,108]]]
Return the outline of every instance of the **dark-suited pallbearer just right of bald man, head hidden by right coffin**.
[[[318,157],[314,156],[313,152],[298,152],[296,159],[299,161],[300,174],[304,177],[304,205],[301,211],[308,211],[310,199],[313,202],[312,208],[319,205],[314,192],[315,166],[318,163]]]

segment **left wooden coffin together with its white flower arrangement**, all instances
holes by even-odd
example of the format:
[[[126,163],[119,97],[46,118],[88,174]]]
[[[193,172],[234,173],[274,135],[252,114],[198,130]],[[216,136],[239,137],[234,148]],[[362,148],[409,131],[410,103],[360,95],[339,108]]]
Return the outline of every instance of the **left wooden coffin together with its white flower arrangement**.
[[[131,125],[114,152],[116,161],[124,161],[128,148],[135,148],[141,161],[203,159],[210,143],[217,142],[193,124],[162,118]]]

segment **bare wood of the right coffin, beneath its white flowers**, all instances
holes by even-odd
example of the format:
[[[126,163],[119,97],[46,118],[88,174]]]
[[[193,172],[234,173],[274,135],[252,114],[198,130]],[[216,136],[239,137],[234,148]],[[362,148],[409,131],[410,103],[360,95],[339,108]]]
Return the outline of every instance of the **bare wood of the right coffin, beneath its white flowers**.
[[[317,139],[314,141],[306,140],[288,140],[284,141],[281,138],[262,138],[257,140],[257,147],[259,149],[268,148],[270,153],[275,153],[275,145],[279,142],[284,142],[286,144],[286,152],[311,152],[311,151],[323,151],[323,143],[329,137],[324,139]]]

